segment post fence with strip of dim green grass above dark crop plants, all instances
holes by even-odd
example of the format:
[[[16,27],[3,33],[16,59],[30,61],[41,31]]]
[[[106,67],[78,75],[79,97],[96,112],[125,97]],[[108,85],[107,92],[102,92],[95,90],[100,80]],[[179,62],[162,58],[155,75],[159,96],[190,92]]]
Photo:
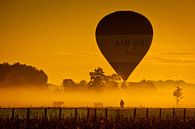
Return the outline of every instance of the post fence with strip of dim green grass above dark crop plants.
[[[34,113],[33,113],[34,112]],[[23,115],[22,115],[23,114]],[[67,115],[69,114],[69,115]],[[7,115],[7,116],[6,116]],[[195,109],[187,108],[0,108],[0,118],[11,117],[30,119],[38,115],[39,117],[129,117],[129,118],[163,118],[184,121],[187,118],[195,118]]]

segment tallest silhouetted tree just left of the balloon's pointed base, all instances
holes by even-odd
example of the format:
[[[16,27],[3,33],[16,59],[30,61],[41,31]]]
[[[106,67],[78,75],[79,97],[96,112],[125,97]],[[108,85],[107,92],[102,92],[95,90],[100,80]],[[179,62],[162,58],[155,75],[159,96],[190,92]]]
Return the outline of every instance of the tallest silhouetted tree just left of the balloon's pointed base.
[[[105,74],[102,68],[97,68],[94,72],[90,72],[90,81],[88,83],[90,88],[102,88],[105,86]]]

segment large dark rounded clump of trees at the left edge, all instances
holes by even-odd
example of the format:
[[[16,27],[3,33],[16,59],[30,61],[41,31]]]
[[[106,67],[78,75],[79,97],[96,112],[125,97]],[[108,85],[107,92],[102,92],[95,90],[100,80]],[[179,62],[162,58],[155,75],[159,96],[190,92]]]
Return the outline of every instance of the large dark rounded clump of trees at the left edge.
[[[48,77],[43,70],[26,64],[0,64],[0,85],[43,85]]]

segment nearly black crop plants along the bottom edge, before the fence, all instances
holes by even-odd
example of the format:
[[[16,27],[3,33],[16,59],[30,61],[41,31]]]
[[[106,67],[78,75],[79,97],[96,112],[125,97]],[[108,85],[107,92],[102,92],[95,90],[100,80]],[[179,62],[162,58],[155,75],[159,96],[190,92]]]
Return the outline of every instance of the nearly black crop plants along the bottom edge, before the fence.
[[[195,129],[194,119],[33,118],[0,119],[0,129]]]

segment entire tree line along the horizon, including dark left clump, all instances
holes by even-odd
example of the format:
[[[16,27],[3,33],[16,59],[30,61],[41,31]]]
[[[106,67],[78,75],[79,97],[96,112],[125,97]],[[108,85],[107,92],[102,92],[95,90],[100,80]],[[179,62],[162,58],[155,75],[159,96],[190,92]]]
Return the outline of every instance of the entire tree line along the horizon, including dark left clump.
[[[122,83],[122,79],[117,74],[106,75],[102,68],[98,67],[93,71],[89,72],[89,81],[81,80],[76,83],[71,78],[64,78],[62,80],[62,86],[64,88],[91,88],[91,89],[102,89],[102,88],[138,88],[147,87],[155,88],[156,85],[166,84],[187,84],[182,80],[173,81],[152,81],[142,80],[140,82],[126,82]],[[7,85],[48,85],[48,76],[43,70],[39,70],[34,66],[21,64],[21,63],[2,63],[0,64],[0,86]]]

